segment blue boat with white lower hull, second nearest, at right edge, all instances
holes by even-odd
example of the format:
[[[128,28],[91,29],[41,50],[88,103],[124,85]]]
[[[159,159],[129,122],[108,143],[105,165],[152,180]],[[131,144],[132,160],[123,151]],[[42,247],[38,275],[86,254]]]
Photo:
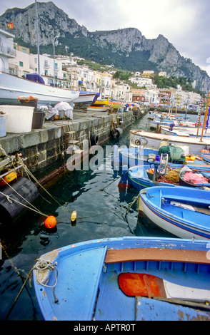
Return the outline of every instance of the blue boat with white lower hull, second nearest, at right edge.
[[[139,193],[139,212],[177,237],[210,239],[210,191],[191,187],[150,187]]]

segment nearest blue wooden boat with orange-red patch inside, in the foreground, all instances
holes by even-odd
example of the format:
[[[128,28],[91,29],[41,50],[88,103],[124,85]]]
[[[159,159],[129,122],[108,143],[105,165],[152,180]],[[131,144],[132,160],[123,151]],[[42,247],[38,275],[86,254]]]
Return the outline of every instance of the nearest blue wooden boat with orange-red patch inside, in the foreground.
[[[206,241],[154,237],[61,247],[34,269],[41,313],[59,321],[209,320],[208,251]]]

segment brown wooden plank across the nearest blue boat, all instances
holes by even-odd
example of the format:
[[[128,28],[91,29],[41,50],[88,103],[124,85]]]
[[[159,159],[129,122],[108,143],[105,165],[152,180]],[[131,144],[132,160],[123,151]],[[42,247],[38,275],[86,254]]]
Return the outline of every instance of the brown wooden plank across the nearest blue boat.
[[[144,260],[210,264],[210,259],[206,258],[206,252],[203,251],[157,248],[109,249],[104,262],[111,264]]]

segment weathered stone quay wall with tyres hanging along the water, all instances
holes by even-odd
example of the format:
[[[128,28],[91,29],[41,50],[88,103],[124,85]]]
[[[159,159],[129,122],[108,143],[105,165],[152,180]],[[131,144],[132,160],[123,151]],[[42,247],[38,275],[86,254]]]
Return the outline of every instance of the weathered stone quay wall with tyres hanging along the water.
[[[96,135],[97,144],[104,144],[114,129],[126,129],[145,113],[142,110],[111,114],[74,111],[74,120],[45,121],[41,129],[32,129],[29,133],[6,133],[0,138],[0,144],[8,155],[21,153],[27,168],[38,179],[41,176],[46,181],[46,175],[53,175],[49,172],[51,165],[57,163],[59,170],[62,169],[69,140],[81,147],[84,140]]]

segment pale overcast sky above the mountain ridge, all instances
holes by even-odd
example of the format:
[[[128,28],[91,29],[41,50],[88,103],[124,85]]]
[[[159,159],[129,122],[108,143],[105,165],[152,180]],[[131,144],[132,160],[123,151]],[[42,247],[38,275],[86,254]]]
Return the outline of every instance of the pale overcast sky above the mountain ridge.
[[[0,0],[0,15],[35,1]],[[42,0],[40,2],[48,2]],[[210,0],[53,0],[89,31],[137,28],[146,38],[161,33],[210,76]]]

